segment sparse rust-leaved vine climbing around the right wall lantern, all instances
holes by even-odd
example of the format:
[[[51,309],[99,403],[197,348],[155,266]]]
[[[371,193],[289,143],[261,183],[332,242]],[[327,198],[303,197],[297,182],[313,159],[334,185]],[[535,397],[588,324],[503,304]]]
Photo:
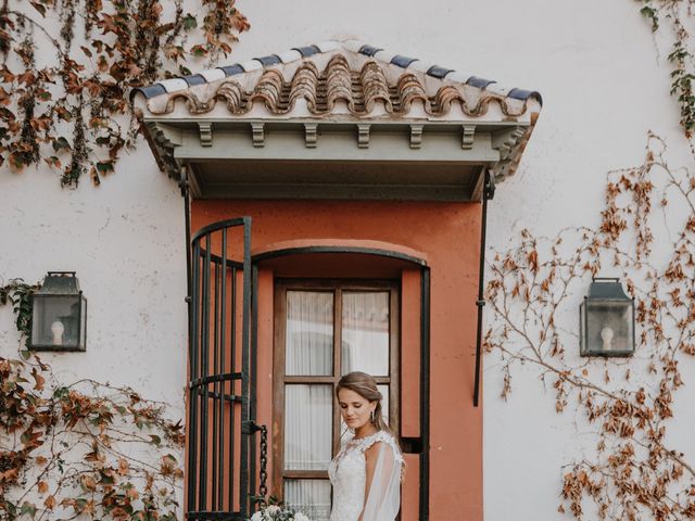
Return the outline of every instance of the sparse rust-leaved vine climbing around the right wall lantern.
[[[563,470],[558,509],[578,520],[695,519],[693,455],[667,436],[685,385],[681,363],[695,356],[695,176],[671,168],[665,152],[650,135],[642,165],[608,174],[597,228],[552,238],[525,230],[519,246],[490,266],[493,327],[485,347],[503,360],[502,396],[511,392],[514,368],[531,365],[552,389],[555,410],[576,406],[596,432],[586,458]],[[652,251],[655,206],[674,227],[665,265]],[[578,309],[577,295],[606,272],[620,274],[635,298],[636,356],[578,361],[566,353],[578,351],[578,336],[576,318],[568,322],[565,312]]]

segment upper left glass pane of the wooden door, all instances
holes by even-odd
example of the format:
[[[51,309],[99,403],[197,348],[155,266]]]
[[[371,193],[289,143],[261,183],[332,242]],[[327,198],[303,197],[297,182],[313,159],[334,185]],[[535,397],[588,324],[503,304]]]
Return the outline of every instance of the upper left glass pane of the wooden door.
[[[285,373],[329,376],[332,365],[332,292],[288,291]]]

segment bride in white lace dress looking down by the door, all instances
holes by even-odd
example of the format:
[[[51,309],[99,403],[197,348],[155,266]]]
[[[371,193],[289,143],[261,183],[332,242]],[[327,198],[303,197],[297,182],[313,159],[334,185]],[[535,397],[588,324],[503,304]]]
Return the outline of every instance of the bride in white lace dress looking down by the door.
[[[404,461],[382,416],[377,382],[365,372],[348,373],[338,382],[336,396],[354,435],[328,468],[333,485],[330,521],[393,521]]]

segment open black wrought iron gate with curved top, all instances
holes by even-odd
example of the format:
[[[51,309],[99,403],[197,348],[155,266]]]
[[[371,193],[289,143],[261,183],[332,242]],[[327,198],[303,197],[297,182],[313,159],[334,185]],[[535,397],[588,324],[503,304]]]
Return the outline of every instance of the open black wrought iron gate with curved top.
[[[248,519],[260,429],[251,218],[198,231],[190,271],[187,517]]]

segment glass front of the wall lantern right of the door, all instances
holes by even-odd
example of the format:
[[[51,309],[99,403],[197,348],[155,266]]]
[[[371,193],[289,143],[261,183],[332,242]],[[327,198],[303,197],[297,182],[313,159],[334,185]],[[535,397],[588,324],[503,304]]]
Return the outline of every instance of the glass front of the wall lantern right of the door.
[[[629,354],[634,350],[632,302],[586,302],[586,354]]]

